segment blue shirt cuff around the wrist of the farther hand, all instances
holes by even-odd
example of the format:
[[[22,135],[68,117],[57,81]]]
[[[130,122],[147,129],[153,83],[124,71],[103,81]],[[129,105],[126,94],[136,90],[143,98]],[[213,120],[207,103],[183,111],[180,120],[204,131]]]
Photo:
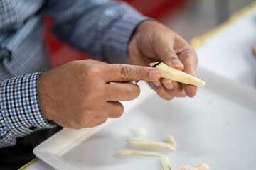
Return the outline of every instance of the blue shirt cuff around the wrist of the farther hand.
[[[105,58],[110,63],[130,63],[128,56],[129,40],[134,33],[134,30],[146,20],[152,20],[140,13],[126,14],[119,18],[109,33],[104,38]]]

